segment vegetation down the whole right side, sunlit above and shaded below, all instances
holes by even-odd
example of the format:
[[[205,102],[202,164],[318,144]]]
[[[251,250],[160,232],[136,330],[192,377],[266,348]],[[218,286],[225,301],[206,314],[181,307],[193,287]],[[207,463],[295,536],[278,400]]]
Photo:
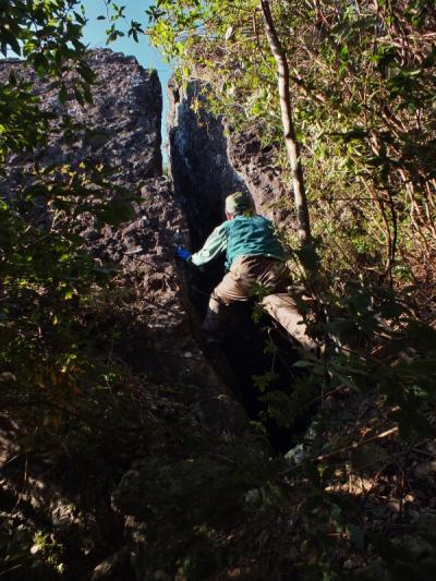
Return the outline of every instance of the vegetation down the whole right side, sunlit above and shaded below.
[[[182,84],[203,86],[196,107],[240,134],[256,131],[290,187],[263,4],[159,0],[149,34]],[[434,2],[268,4],[290,71],[313,244],[284,238],[300,306],[327,344],[320,362],[303,355],[296,366],[307,375],[291,372],[289,394],[274,389],[274,370],[256,378],[278,423],[292,425],[318,403],[300,445],[304,462],[282,480],[288,503],[295,491],[304,497],[301,571],[372,577],[363,566],[378,555],[391,579],[412,568],[428,579],[435,540],[419,521],[435,436]]]

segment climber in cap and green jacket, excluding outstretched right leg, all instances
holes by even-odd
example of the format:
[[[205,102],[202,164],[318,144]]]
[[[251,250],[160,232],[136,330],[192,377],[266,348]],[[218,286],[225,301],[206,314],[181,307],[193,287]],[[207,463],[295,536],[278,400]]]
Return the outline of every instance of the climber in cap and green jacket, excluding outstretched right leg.
[[[203,266],[226,254],[221,282],[213,291],[202,325],[208,337],[219,341],[232,303],[250,300],[256,288],[266,293],[284,290],[289,283],[284,249],[274,225],[257,215],[251,198],[237,192],[226,198],[227,220],[215,228],[203,247],[195,254],[179,246],[177,255],[195,266]]]

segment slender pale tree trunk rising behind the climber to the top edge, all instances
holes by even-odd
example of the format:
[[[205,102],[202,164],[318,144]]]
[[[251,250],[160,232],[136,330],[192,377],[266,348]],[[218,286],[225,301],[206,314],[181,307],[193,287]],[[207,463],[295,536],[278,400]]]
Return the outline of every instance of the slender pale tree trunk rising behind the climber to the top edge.
[[[293,196],[296,208],[296,222],[300,242],[307,244],[311,241],[311,223],[308,217],[307,198],[304,189],[303,168],[300,161],[300,147],[295,137],[295,129],[292,119],[291,95],[289,89],[289,64],[277,35],[272,21],[269,0],[259,0],[264,17],[265,34],[269,47],[276,59],[278,70],[278,85],[280,96],[281,122],[283,125],[284,143],[289,164],[292,172]]]

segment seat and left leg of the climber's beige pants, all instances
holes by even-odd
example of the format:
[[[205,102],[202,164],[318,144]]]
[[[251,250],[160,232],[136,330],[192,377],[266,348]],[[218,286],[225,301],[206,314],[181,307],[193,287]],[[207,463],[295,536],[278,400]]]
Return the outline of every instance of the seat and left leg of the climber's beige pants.
[[[230,304],[247,301],[256,293],[256,289],[267,294],[284,290],[288,282],[287,267],[282,261],[267,256],[238,256],[211,293],[202,328],[220,335]]]

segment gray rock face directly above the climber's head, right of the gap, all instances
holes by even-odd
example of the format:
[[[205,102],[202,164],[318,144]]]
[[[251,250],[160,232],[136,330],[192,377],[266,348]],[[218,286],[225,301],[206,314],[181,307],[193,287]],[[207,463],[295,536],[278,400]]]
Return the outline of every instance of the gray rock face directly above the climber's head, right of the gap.
[[[255,131],[235,135],[222,119],[207,113],[194,82],[183,90],[172,81],[169,99],[170,170],[194,246],[225,219],[223,201],[237,190],[251,193],[259,214],[288,223],[290,213],[283,209],[283,201],[289,194],[271,166],[271,150],[262,147],[261,135]]]

